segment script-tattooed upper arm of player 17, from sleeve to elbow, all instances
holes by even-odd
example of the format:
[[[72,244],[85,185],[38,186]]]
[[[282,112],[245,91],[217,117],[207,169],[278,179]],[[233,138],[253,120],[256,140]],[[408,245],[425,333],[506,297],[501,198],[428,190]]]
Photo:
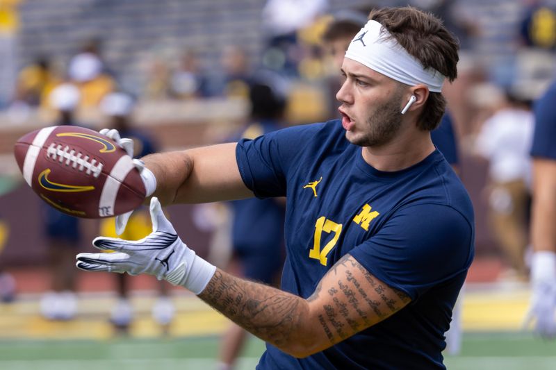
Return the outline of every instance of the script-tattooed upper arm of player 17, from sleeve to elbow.
[[[411,299],[347,254],[320,280],[307,301],[317,338],[314,349],[322,351],[390,317]]]

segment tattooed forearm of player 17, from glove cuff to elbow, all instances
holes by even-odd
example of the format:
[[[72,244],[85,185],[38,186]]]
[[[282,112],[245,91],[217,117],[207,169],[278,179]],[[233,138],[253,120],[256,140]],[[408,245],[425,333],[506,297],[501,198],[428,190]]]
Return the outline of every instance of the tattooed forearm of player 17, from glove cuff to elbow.
[[[304,317],[304,299],[216,270],[199,298],[245,330],[280,347]],[[305,315],[306,317],[306,315]]]

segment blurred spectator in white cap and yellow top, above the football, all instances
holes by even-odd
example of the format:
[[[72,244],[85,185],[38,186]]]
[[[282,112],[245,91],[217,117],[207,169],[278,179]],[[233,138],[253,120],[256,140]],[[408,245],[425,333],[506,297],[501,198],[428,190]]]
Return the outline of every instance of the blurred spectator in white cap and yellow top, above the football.
[[[79,108],[97,108],[101,99],[115,88],[100,55],[99,40],[88,40],[67,67],[70,80],[79,87]]]

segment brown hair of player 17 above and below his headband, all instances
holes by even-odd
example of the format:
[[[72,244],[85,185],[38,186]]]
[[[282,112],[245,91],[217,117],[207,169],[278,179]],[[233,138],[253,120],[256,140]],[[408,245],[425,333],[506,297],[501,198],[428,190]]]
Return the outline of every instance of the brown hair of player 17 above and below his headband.
[[[368,18],[382,24],[425,69],[434,68],[448,81],[455,80],[459,43],[440,19],[411,6],[371,10]],[[434,130],[440,124],[445,106],[441,93],[430,92],[417,126],[422,130]]]

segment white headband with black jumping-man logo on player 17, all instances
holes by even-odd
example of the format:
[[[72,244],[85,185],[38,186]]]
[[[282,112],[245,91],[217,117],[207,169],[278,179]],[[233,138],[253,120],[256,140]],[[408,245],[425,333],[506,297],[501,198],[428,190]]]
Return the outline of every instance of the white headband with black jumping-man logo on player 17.
[[[382,31],[382,32],[381,32]],[[357,33],[345,52],[350,58],[395,81],[414,86],[422,83],[432,92],[441,92],[445,76],[423,65],[390,37],[386,28],[369,21]]]

